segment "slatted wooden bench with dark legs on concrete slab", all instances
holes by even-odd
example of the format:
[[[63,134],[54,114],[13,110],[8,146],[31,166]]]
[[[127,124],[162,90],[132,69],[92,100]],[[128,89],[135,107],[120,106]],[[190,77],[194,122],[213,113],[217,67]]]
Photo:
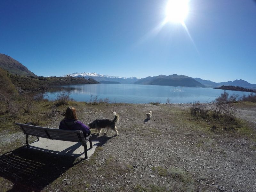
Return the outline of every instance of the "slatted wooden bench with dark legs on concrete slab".
[[[53,129],[53,128],[38,127],[38,126],[34,126],[34,125],[21,124],[21,123],[15,123],[15,124],[19,125],[20,129],[26,135],[27,148],[29,148],[28,135],[36,136],[38,141],[39,141],[38,137],[43,137],[43,138],[48,138],[51,140],[81,142],[82,145],[84,146],[85,159],[88,158],[87,145],[86,145],[87,141],[90,142],[90,148],[92,148],[92,135],[89,134],[85,138],[82,131]]]

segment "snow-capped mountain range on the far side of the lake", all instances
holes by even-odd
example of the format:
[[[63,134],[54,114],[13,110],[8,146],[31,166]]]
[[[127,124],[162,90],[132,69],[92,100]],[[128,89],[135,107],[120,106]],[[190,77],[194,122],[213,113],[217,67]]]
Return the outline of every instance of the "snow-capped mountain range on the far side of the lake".
[[[67,74],[72,77],[84,77],[84,78],[93,78],[96,81],[115,81],[121,84],[133,84],[135,81],[138,81],[137,77],[119,77],[119,76],[109,76],[109,75],[101,75],[98,73],[72,73]],[[64,75],[64,76],[67,76]]]

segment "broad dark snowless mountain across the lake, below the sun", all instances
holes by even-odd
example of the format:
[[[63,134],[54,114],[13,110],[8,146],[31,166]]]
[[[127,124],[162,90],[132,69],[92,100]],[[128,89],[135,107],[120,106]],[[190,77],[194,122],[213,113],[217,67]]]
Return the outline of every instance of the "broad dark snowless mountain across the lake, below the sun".
[[[169,86],[186,86],[186,87],[204,87],[203,84],[196,81],[192,77],[185,75],[159,75],[159,76],[148,76],[136,81],[134,84],[144,84],[144,85],[169,85]]]

